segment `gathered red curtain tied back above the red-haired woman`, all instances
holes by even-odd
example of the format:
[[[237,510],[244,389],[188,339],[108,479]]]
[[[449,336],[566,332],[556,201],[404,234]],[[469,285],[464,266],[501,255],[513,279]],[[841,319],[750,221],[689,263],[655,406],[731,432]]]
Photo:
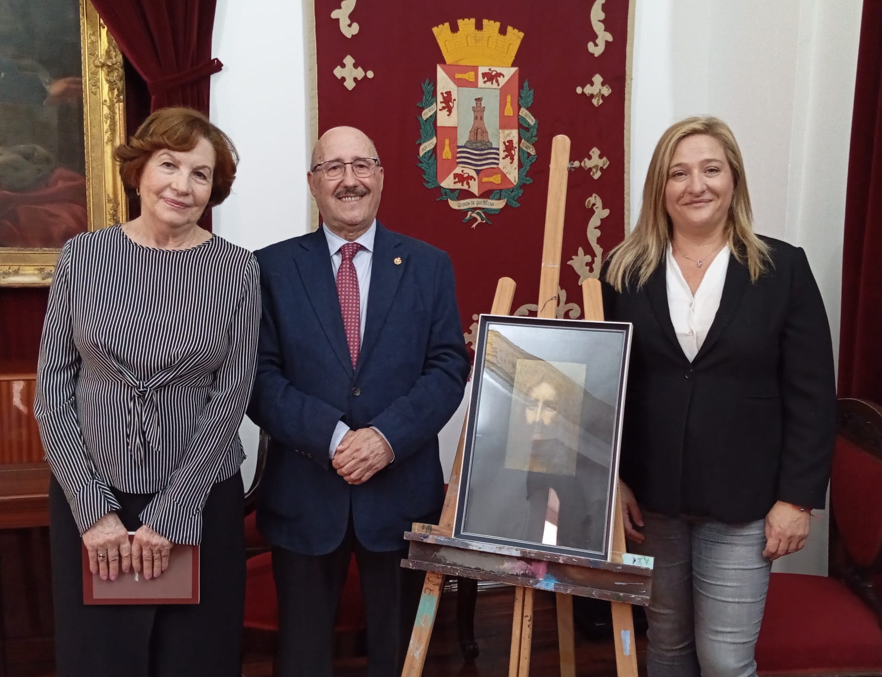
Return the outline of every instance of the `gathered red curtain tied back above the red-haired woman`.
[[[123,55],[144,78],[151,110],[191,106],[208,115],[217,0],[92,0]],[[131,121],[130,121],[131,122]]]

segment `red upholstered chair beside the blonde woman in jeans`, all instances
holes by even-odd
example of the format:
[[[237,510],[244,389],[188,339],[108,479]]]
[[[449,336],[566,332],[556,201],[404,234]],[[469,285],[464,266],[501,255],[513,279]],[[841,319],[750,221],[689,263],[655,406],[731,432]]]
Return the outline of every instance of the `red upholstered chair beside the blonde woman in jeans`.
[[[839,401],[829,576],[772,574],[759,674],[882,674],[882,408]]]

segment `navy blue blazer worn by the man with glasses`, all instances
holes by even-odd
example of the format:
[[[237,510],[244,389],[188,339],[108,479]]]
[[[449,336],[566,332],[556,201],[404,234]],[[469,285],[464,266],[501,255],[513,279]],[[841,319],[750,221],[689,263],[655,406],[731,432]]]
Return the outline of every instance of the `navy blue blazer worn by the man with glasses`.
[[[256,256],[263,316],[248,414],[272,437],[258,529],[273,545],[327,554],[340,545],[351,506],[365,547],[400,549],[412,522],[440,515],[437,433],[468,376],[450,258],[377,223],[354,371],[323,230]],[[362,485],[340,478],[328,454],[338,420],[382,431],[392,464]]]

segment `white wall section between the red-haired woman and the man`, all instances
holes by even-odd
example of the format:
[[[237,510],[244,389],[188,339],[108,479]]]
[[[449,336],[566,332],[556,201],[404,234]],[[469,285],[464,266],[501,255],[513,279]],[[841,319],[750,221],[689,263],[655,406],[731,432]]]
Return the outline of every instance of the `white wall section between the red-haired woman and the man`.
[[[224,68],[212,78],[210,113],[242,159],[232,194],[214,210],[214,230],[248,249],[307,230],[311,149],[303,26],[302,6],[290,0],[265,0],[260,11],[241,0],[218,0],[215,11],[213,56]],[[247,487],[258,430],[246,418],[241,434],[250,455],[242,469]]]

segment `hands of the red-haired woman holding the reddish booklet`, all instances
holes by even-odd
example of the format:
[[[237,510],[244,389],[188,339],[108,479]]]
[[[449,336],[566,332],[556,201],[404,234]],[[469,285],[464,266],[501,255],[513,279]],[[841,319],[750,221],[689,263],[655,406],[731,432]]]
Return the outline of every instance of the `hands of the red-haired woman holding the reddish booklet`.
[[[89,570],[105,581],[115,581],[120,569],[128,573],[132,567],[137,573],[143,569],[147,580],[160,577],[168,569],[173,545],[146,524],[135,532],[130,544],[129,532],[116,512],[108,512],[89,527],[83,533],[83,544],[89,554]]]

